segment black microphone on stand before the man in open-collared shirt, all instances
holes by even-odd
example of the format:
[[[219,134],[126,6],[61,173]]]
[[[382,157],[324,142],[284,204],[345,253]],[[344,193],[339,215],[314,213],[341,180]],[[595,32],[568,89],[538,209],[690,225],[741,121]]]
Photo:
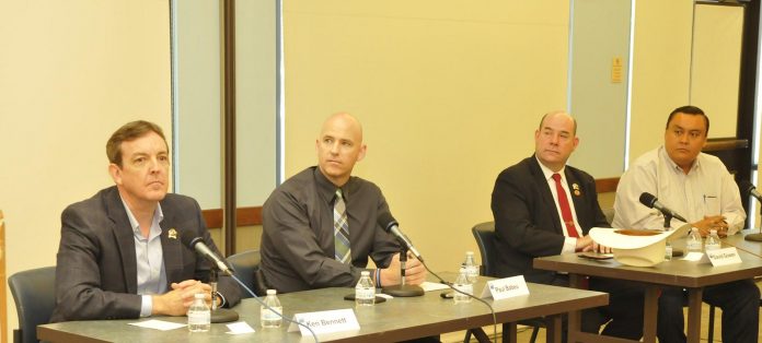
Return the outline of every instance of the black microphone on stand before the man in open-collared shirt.
[[[239,315],[236,311],[229,308],[217,307],[217,273],[219,271],[228,276],[232,276],[233,271],[213,250],[209,249],[204,243],[204,238],[194,237],[190,232],[182,232],[180,240],[190,250],[196,250],[198,255],[211,262],[211,270],[209,270],[209,285],[211,286],[211,322],[231,322],[238,320]]]

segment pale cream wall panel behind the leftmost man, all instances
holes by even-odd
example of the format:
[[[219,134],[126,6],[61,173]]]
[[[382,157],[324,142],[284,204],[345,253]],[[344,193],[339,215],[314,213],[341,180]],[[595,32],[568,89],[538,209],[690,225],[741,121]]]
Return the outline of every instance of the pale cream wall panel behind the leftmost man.
[[[145,118],[171,134],[168,19],[164,0],[0,2],[9,275],[55,264],[61,210],[113,184],[111,132]]]

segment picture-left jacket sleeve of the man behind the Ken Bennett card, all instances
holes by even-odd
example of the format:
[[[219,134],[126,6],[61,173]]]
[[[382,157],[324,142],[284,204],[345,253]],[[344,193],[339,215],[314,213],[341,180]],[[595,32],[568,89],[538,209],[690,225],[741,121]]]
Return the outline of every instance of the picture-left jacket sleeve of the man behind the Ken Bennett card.
[[[53,320],[138,318],[139,295],[102,289],[99,258],[104,247],[92,226],[103,224],[85,217],[71,208],[61,214],[61,240],[56,267],[58,314],[54,315]]]

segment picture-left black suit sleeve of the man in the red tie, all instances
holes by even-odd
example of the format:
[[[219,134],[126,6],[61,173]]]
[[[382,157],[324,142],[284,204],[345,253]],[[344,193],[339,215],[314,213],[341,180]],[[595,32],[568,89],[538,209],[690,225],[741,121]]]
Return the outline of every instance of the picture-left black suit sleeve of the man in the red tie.
[[[516,174],[503,172],[495,181],[492,210],[498,238],[531,257],[561,253],[564,235],[553,227],[538,226],[538,217],[550,216],[550,211],[555,209],[542,208],[536,185]]]

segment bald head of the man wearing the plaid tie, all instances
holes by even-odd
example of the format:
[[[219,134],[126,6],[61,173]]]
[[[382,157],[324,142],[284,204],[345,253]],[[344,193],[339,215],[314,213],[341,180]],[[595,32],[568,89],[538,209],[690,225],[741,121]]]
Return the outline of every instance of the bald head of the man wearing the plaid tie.
[[[335,186],[344,186],[351,176],[355,163],[366,154],[362,144],[362,126],[346,113],[328,117],[315,141],[318,167]]]

